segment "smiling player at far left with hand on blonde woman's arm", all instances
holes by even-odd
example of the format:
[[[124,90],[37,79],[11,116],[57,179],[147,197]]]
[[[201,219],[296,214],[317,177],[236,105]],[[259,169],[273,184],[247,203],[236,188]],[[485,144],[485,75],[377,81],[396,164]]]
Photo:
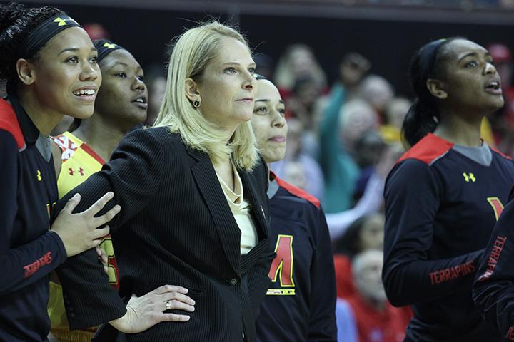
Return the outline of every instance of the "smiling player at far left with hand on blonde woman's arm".
[[[94,218],[111,193],[71,214],[75,196],[49,227],[57,182],[47,137],[64,114],[93,114],[101,74],[86,31],[59,9],[2,5],[0,32],[9,97],[0,100],[0,341],[45,341],[49,273],[99,244],[109,229],[96,227],[119,212]]]

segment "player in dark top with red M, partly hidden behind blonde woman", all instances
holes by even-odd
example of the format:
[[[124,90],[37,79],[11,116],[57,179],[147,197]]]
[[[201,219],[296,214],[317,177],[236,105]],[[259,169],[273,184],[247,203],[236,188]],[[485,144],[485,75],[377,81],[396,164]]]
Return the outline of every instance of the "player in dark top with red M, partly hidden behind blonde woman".
[[[286,153],[286,108],[276,86],[257,76],[251,119],[268,163]],[[336,276],[325,214],[316,197],[269,175],[271,244],[276,258],[258,316],[258,341],[336,341]]]

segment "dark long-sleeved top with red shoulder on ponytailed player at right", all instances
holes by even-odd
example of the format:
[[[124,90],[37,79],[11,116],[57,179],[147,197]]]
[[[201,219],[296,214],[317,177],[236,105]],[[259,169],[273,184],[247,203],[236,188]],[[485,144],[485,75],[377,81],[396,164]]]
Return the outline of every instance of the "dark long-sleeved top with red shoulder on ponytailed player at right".
[[[473,306],[471,286],[513,182],[514,163],[499,152],[433,134],[393,167],[383,281],[393,305],[412,304],[407,341],[501,340]]]

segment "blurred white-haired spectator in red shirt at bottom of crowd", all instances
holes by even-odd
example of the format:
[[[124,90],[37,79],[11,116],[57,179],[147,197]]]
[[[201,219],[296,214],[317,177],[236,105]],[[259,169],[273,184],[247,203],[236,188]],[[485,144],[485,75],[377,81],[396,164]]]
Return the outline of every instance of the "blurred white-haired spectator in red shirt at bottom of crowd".
[[[388,302],[381,279],[382,265],[383,254],[376,249],[359,253],[352,261],[351,274],[357,291],[346,301],[361,342],[400,342],[405,338],[410,315]],[[337,305],[341,306],[341,301]],[[343,338],[338,341],[347,342]]]

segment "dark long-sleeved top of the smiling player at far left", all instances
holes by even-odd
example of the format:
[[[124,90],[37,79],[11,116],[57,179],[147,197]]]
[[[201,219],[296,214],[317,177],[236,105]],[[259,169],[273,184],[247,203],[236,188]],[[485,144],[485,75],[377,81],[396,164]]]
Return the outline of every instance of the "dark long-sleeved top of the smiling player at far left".
[[[50,331],[48,274],[66,250],[49,232],[57,200],[49,140],[11,103],[0,100],[0,341],[41,342]]]

